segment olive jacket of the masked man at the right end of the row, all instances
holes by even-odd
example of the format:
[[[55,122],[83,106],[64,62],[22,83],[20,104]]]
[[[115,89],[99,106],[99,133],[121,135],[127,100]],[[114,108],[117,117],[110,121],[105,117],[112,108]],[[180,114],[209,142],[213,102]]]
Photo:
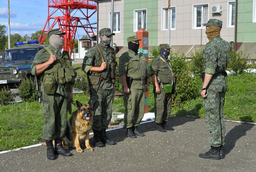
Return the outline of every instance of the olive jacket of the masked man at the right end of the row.
[[[157,57],[152,61],[150,66],[150,74],[155,74],[162,83],[172,82],[173,76],[170,63],[162,57]]]

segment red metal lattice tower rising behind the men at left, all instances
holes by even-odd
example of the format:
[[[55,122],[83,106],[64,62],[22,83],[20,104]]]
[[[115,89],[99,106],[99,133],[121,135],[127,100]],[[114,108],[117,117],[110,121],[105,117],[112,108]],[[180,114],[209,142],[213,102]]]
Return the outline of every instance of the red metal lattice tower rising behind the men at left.
[[[42,44],[47,38],[47,34],[43,35],[43,33],[47,33],[58,24],[58,28],[67,33],[64,36],[63,48],[69,52],[71,57],[77,27],[83,28],[89,37],[95,35],[93,31],[93,29],[96,29],[96,27],[93,27],[95,23],[90,23],[89,18],[96,11],[97,4],[92,0],[48,0],[47,22],[40,34],[39,43]],[[74,15],[81,17],[75,17]]]

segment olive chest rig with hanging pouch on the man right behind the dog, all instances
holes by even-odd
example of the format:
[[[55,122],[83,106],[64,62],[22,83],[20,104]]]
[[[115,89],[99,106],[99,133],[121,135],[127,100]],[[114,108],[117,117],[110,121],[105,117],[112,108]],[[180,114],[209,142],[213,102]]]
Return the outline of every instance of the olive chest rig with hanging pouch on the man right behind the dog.
[[[104,63],[105,60],[103,58],[103,50],[101,46],[98,44],[95,46],[96,48],[96,55],[98,57],[101,57],[101,61],[96,62],[95,66],[101,66],[101,63]],[[112,57],[112,62],[107,66],[107,68],[102,71],[102,72],[94,72],[89,75],[90,83],[94,87],[95,90],[98,91],[100,84],[101,84],[101,79],[104,80],[111,80],[113,83],[115,82],[115,70],[116,70],[116,63],[115,63],[115,58],[113,58],[115,52],[112,49],[109,49],[110,55]]]

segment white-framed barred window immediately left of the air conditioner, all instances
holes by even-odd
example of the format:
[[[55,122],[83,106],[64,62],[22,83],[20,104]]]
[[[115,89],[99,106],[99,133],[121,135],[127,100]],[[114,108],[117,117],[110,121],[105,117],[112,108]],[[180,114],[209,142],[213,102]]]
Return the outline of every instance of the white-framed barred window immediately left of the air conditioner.
[[[208,15],[208,4],[193,5],[193,29],[205,28],[202,24],[207,23]]]

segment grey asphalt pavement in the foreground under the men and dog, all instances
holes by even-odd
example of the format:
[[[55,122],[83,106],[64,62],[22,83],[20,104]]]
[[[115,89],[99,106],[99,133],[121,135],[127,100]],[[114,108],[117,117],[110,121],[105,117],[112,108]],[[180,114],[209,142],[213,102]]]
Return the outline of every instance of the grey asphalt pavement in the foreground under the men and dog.
[[[37,146],[0,154],[2,172],[255,172],[256,127],[226,122],[226,157],[201,159],[209,150],[209,131],[204,119],[179,116],[169,119],[175,131],[158,132],[154,122],[139,126],[145,137],[130,139],[124,129],[108,131],[115,146],[95,147],[93,152],[72,157],[46,158],[46,147]],[[92,136],[91,136],[92,137]],[[92,144],[92,139],[90,139]]]

